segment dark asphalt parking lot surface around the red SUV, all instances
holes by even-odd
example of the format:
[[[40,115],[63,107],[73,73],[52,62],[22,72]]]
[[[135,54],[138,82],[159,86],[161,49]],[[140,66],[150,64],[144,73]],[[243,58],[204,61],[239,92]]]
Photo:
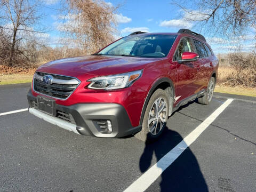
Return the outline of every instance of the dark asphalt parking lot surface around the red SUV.
[[[0,191],[129,189],[228,97],[234,100],[146,191],[256,191],[256,98],[218,94],[209,106],[190,102],[169,118],[160,140],[145,145],[134,137],[77,135],[28,111],[3,114],[26,109],[28,90],[0,86]]]

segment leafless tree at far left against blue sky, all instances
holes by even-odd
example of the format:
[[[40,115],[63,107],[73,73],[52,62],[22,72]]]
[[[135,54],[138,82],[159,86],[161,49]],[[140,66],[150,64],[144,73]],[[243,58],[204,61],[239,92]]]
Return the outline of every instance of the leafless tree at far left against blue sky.
[[[39,20],[42,14],[38,11],[39,1],[0,0],[0,28],[12,34],[9,66],[13,65],[14,54],[23,54],[18,49],[19,42],[31,33],[41,33]],[[23,56],[26,57],[25,54]]]

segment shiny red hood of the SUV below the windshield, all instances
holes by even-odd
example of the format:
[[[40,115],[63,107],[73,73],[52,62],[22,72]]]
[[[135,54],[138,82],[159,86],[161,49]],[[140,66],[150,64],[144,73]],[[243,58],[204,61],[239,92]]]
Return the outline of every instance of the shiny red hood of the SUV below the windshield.
[[[84,74],[104,76],[143,69],[148,63],[158,60],[163,60],[163,58],[89,55],[47,62],[39,67],[38,71],[73,77]]]

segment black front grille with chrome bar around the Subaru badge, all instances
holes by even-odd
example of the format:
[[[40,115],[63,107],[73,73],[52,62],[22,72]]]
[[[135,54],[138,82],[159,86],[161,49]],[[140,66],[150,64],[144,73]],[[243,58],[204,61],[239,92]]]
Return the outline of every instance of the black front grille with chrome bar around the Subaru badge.
[[[53,77],[52,84],[46,84],[42,81],[43,76],[51,75]],[[61,75],[52,75],[37,72],[34,78],[34,90],[58,99],[67,99],[69,95],[76,89],[79,82],[73,77]]]

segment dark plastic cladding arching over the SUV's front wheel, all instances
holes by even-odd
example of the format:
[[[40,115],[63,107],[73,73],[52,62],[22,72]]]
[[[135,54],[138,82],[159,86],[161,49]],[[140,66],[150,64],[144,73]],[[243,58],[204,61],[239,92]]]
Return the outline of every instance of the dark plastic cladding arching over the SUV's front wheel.
[[[162,89],[167,93],[167,97],[169,99],[169,116],[172,114],[172,107],[173,107],[173,101],[174,101],[174,84],[172,82],[172,80],[170,78],[167,77],[163,77],[158,79],[153,86],[151,86],[150,90],[148,91],[147,97],[145,99],[142,111],[141,111],[141,115],[140,115],[140,124],[142,125],[143,122],[143,116],[145,114],[147,105],[148,105],[148,101],[151,97],[151,95],[157,90],[157,89]]]

